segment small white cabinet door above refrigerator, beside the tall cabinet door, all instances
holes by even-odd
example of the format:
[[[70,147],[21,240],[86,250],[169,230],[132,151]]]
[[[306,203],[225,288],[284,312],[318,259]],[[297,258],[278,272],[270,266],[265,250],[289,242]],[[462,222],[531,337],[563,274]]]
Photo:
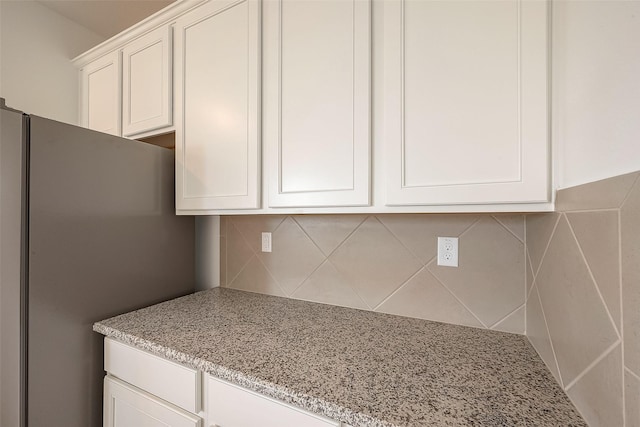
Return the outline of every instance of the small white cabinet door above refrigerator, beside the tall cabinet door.
[[[171,28],[160,27],[122,50],[122,134],[132,136],[170,126]]]

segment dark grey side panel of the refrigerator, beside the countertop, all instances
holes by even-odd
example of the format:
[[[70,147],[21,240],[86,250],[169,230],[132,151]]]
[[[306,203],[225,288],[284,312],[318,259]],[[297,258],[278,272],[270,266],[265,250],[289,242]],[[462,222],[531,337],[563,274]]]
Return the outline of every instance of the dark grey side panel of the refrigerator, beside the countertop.
[[[93,322],[194,291],[174,200],[171,150],[31,116],[29,427],[101,426]]]

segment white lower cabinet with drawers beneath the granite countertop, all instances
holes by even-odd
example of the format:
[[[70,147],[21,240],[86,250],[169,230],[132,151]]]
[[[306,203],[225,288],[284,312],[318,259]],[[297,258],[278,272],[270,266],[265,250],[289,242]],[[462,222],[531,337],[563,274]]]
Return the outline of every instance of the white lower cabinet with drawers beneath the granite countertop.
[[[104,427],[348,427],[111,338],[104,355]]]

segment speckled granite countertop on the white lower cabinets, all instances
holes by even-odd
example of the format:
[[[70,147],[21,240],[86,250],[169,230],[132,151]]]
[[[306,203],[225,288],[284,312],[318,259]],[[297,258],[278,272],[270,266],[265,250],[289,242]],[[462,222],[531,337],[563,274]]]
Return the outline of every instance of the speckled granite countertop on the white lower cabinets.
[[[359,426],[586,426],[524,336],[216,288],[93,329]]]

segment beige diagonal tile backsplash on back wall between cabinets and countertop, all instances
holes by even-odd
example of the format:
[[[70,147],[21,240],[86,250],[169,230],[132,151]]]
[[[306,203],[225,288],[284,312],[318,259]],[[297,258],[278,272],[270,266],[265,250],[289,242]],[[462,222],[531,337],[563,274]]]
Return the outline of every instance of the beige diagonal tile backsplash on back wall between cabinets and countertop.
[[[261,233],[273,252],[261,252]],[[221,284],[512,333],[525,330],[523,215],[223,216]],[[459,237],[460,267],[436,265]]]

